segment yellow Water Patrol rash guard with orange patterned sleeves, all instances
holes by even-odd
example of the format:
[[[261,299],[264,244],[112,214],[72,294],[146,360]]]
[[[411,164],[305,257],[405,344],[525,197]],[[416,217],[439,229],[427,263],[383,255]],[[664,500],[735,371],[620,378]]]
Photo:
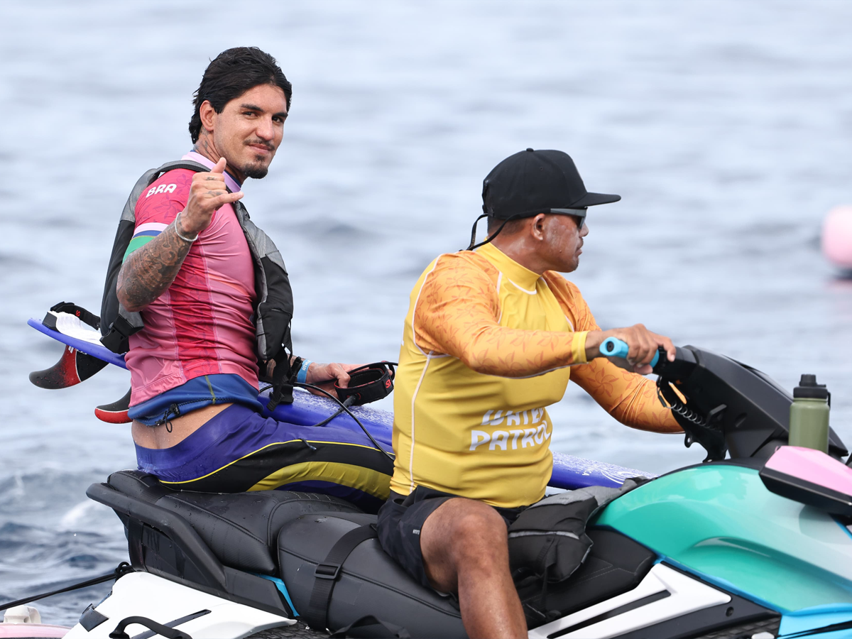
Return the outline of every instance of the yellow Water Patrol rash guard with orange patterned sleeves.
[[[544,497],[553,458],[545,406],[568,379],[620,422],[679,430],[654,383],[599,358],[578,288],[527,270],[493,245],[439,256],[417,280],[394,394],[394,476],[513,508]],[[574,366],[574,365],[584,366]]]

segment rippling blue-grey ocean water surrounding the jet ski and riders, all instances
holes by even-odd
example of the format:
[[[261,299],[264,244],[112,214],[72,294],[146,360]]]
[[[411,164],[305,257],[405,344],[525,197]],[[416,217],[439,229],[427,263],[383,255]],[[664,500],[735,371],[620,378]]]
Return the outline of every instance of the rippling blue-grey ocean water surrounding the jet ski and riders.
[[[126,372],[44,391],[55,302],[97,312],[119,212],[190,146],[208,60],[251,44],[294,87],[285,141],[245,204],[279,244],[299,354],[394,360],[408,294],[467,244],[481,180],[558,148],[622,202],[589,216],[569,278],[605,327],[642,322],[756,366],[814,372],[852,442],[852,281],[820,222],[852,202],[852,3],[0,3],[0,601],[126,558],[85,489],[135,464],[99,423]],[[389,403],[385,402],[385,407]],[[699,462],[679,436],[615,423],[579,389],[553,446],[653,472]],[[71,625],[108,584],[37,603]]]

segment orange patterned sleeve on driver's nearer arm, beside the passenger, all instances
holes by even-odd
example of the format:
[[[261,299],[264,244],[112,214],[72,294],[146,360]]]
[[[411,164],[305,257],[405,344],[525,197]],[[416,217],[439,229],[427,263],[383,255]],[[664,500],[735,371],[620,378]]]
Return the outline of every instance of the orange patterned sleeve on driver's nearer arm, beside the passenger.
[[[483,262],[465,254],[435,261],[412,317],[417,348],[452,355],[476,372],[498,377],[533,377],[584,363],[585,332],[501,326],[498,271]]]

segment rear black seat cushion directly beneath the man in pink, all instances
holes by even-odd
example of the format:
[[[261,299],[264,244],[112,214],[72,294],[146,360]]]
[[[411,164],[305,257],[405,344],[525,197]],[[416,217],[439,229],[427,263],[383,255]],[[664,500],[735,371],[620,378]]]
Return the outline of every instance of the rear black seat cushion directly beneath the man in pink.
[[[360,514],[343,499],[314,492],[175,491],[138,470],[119,470],[107,483],[181,515],[222,564],[254,573],[278,572],[278,533],[287,521],[314,513]]]

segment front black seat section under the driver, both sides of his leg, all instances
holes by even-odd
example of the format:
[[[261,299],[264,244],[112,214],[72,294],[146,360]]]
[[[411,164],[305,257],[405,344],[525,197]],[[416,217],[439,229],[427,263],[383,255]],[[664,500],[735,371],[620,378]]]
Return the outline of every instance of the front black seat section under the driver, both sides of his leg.
[[[281,527],[281,579],[302,619],[315,627],[337,629],[372,615],[406,628],[412,637],[466,636],[458,603],[409,577],[377,538],[366,538],[350,546],[348,556],[329,562],[332,549],[345,535],[373,521],[374,515],[328,513],[302,515]],[[536,580],[518,584],[530,628],[636,588],[657,559],[651,550],[616,531],[590,527],[586,532],[593,545],[569,579],[550,584],[544,592]],[[333,590],[317,597],[320,575],[328,579],[330,573],[337,573]]]

